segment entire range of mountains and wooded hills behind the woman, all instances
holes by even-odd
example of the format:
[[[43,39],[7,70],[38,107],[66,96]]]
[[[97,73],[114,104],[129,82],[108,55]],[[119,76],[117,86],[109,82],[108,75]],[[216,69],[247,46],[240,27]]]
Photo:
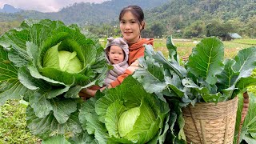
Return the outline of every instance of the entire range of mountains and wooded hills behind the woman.
[[[14,14],[0,13],[0,22],[49,18],[66,24],[78,24],[86,30],[94,30],[94,34],[108,35],[108,29],[118,24],[120,10],[130,4],[141,6],[144,10],[146,29],[143,33],[148,35],[147,38],[167,34],[176,34],[176,37],[202,37],[213,34],[213,31],[221,33],[224,30],[250,38],[255,38],[256,35],[256,0],[111,0],[100,4],[81,2],[63,7],[56,13],[35,10],[22,10]],[[114,33],[115,31],[110,34]]]

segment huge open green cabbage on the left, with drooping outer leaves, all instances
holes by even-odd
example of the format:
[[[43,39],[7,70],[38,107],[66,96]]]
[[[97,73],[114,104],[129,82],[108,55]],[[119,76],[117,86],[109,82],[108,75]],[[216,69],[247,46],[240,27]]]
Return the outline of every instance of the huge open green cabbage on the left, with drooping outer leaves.
[[[24,21],[0,37],[0,104],[29,102],[26,121],[40,138],[82,133],[78,92],[101,85],[106,62],[99,42],[78,26],[59,21]]]

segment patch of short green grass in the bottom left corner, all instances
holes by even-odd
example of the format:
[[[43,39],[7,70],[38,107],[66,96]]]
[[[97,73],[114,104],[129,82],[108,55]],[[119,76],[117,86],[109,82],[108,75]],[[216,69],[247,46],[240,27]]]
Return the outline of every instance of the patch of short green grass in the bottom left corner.
[[[0,143],[38,142],[38,138],[26,127],[26,105],[11,100],[0,107]]]

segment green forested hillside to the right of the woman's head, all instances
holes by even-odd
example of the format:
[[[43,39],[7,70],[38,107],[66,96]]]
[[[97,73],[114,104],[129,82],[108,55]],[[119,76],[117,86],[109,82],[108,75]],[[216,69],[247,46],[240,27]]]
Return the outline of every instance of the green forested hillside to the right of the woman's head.
[[[230,32],[255,38],[256,1],[171,0],[146,10],[146,20],[154,27],[147,33],[157,33],[152,32],[157,28],[164,29],[162,34],[179,33],[183,37],[221,36]]]

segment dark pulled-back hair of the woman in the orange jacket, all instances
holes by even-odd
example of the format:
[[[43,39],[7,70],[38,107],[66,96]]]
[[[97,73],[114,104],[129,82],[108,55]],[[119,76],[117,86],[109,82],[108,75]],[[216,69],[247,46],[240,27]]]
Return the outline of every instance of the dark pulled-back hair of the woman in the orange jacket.
[[[119,22],[121,21],[123,15],[126,14],[127,11],[130,11],[131,14],[133,14],[134,17],[137,18],[138,23],[142,25],[142,30],[143,30],[145,23],[142,23],[144,21],[144,13],[142,8],[136,5],[130,5],[130,6],[124,7],[119,14]]]

